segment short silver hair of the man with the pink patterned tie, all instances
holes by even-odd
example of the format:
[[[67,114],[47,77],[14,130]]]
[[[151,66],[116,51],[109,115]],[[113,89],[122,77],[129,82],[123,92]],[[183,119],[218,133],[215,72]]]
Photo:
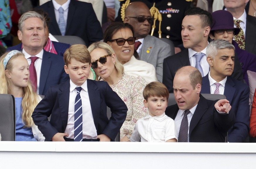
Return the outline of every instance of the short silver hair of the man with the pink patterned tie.
[[[230,42],[222,39],[213,40],[211,41],[206,48],[206,57],[211,56],[213,59],[218,53],[219,49],[234,49],[234,45],[232,45]]]

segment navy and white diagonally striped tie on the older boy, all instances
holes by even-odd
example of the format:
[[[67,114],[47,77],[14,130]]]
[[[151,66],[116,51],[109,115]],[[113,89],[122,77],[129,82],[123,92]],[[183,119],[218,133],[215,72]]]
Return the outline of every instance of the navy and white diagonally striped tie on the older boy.
[[[81,87],[77,87],[77,96],[75,99],[74,141],[83,141],[83,111],[82,100],[80,97],[81,90]]]

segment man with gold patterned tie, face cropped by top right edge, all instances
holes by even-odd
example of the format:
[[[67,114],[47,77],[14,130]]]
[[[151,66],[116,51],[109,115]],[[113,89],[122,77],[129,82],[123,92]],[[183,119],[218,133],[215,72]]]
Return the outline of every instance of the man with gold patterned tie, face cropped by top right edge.
[[[256,55],[256,18],[246,14],[245,5],[249,0],[224,0],[226,10],[232,13],[234,20],[240,20],[240,27],[245,35],[245,50]],[[237,27],[235,25],[235,27]]]

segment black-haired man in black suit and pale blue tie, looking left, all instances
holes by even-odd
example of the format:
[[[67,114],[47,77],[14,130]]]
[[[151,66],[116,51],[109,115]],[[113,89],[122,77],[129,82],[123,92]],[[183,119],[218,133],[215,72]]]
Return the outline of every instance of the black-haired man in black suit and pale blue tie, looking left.
[[[182,21],[183,51],[169,56],[163,62],[163,83],[170,93],[173,93],[173,78],[175,72],[182,66],[193,66],[199,69],[202,76],[209,72],[206,61],[206,47],[212,23],[211,13],[201,8],[190,8]],[[239,60],[235,58],[235,68],[232,76],[243,81],[243,72]]]

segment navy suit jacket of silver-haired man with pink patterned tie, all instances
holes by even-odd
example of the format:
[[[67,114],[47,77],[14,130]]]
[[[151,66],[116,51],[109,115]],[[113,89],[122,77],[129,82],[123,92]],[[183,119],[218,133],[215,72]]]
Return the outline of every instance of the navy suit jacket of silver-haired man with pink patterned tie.
[[[211,94],[209,74],[203,77],[201,93]],[[224,95],[229,101],[235,114],[235,123],[228,131],[228,142],[242,143],[249,132],[250,105],[249,86],[228,76],[225,83]]]

